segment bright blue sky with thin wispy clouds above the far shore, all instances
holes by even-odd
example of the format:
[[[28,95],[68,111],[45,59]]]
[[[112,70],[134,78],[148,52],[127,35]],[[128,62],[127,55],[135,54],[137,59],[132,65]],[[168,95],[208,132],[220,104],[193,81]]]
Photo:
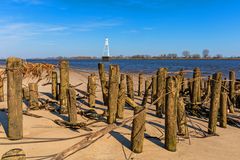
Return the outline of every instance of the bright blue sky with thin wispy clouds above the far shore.
[[[0,58],[240,56],[239,0],[0,0]]]

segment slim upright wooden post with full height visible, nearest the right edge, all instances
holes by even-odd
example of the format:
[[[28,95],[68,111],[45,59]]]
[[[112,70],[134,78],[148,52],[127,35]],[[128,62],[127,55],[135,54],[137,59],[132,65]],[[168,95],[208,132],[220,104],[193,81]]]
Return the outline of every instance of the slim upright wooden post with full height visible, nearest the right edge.
[[[233,104],[233,107],[236,107],[236,95],[235,95],[235,83],[236,83],[236,73],[232,70],[229,72],[229,98]]]

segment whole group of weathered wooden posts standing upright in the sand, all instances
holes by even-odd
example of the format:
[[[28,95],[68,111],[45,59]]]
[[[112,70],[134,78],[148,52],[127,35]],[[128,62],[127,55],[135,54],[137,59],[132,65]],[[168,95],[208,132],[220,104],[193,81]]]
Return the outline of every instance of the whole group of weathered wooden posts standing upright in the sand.
[[[29,100],[30,109],[38,109],[38,86],[36,83],[30,83],[28,88],[22,88],[21,59],[8,58],[6,67],[8,138],[18,140],[23,137],[22,98]],[[226,81],[222,81],[220,72],[209,77],[207,81],[203,81],[200,69],[196,68],[194,69],[193,79],[186,80],[183,71],[175,76],[169,76],[166,68],[160,68],[157,74],[152,76],[151,82],[150,80],[145,81],[145,92],[142,87],[144,78],[142,74],[139,74],[138,96],[143,99],[142,104],[137,105],[134,102],[134,83],[131,74],[121,74],[118,65],[110,65],[107,80],[104,64],[100,63],[98,69],[103,102],[104,105],[108,106],[107,122],[112,124],[116,122],[117,118],[124,118],[125,103],[134,109],[134,116],[136,117],[132,126],[131,148],[136,153],[143,150],[146,108],[150,95],[151,104],[156,105],[156,116],[161,118],[165,115],[165,147],[169,151],[176,151],[177,134],[188,136],[185,103],[182,97],[186,90],[190,92],[193,111],[201,106],[203,99],[210,100],[209,134],[216,133],[218,112],[220,112],[220,126],[226,127],[228,102],[236,103],[236,76],[233,71],[230,72],[229,88],[227,88]],[[87,89],[90,107],[95,106],[96,79],[95,74],[88,77]],[[204,95],[202,89],[205,90]],[[66,60],[60,62],[60,83],[58,83],[58,73],[56,71],[52,72],[52,96],[60,101],[60,113],[68,113],[69,122],[77,123],[76,91],[70,87],[69,62]],[[0,101],[4,101],[2,79],[0,79]]]

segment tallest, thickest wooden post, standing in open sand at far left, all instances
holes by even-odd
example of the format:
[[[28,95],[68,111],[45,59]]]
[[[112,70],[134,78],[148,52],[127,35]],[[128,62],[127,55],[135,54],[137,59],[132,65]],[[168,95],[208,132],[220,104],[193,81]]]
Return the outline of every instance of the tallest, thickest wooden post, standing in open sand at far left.
[[[7,105],[8,105],[8,138],[22,139],[22,60],[10,57],[7,59]]]

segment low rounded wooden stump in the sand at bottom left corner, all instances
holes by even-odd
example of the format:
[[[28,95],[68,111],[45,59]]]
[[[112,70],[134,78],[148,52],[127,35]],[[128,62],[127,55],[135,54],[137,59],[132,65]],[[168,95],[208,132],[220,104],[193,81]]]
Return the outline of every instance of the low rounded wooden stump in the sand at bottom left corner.
[[[26,154],[22,149],[15,148],[4,153],[1,160],[26,160]]]

